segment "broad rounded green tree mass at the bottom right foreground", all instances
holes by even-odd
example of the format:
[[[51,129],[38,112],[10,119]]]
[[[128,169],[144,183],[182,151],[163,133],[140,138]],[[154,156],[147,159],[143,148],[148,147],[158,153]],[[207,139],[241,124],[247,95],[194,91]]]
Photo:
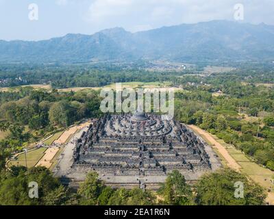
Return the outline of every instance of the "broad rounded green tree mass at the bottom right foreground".
[[[243,183],[244,196],[236,198],[236,184]],[[225,168],[216,172],[203,175],[197,181],[197,196],[195,202],[198,205],[264,205],[266,192],[260,185],[247,179],[234,170]]]

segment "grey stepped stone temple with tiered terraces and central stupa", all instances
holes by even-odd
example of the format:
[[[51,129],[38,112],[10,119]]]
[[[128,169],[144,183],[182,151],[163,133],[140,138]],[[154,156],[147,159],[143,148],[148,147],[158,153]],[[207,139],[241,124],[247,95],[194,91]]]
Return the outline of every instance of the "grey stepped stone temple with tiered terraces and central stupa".
[[[95,170],[114,188],[156,190],[169,172],[179,170],[190,183],[220,166],[216,155],[188,127],[164,116],[106,114],[77,140],[63,183],[77,187]]]

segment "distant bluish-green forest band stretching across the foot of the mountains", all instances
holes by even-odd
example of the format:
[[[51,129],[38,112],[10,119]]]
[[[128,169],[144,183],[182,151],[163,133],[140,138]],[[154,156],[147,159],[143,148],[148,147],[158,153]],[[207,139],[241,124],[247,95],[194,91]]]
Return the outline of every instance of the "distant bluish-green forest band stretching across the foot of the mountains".
[[[232,64],[236,70],[225,74],[204,75],[207,64],[186,70],[147,70],[149,62],[131,64],[0,64],[0,88],[32,84],[51,84],[53,88],[100,87],[116,82],[163,82],[173,86],[184,83],[213,83],[245,81],[247,83],[274,83],[274,64]],[[205,77],[207,76],[207,77]]]

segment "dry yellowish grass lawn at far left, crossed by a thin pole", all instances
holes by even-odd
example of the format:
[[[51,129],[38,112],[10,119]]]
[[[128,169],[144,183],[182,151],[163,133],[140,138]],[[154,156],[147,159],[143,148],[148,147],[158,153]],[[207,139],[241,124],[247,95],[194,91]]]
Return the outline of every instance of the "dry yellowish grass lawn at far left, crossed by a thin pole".
[[[40,148],[27,152],[27,167],[35,166],[42,156],[44,156],[46,150],[45,148]],[[18,155],[16,160],[8,162],[8,166],[25,166],[25,153]]]

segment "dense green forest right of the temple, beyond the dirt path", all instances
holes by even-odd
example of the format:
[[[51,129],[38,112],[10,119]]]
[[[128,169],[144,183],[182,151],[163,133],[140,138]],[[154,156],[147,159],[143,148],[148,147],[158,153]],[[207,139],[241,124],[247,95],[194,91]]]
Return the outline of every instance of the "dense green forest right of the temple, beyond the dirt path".
[[[274,170],[274,90],[232,78],[177,93],[178,120],[198,125]],[[220,96],[212,92],[222,90]]]

